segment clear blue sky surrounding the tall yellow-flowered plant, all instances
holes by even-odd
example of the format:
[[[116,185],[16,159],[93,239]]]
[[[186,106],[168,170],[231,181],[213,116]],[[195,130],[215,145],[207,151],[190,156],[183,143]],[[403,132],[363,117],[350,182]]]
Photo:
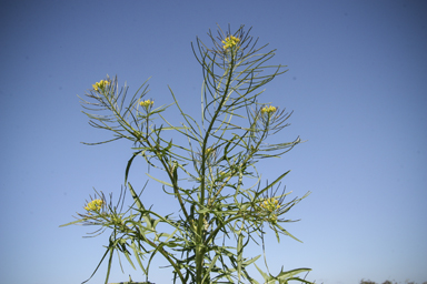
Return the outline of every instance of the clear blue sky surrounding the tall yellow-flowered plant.
[[[289,213],[301,221],[287,229],[304,243],[271,239],[270,268],[311,267],[307,278],[325,284],[427,281],[426,14],[426,1],[1,1],[1,282],[90,276],[107,234],[87,240],[90,227],[58,226],[92,186],[117,196],[131,145],[81,144],[109,134],[88,125],[76,94],[106,74],[131,93],[152,77],[156,103],[172,101],[169,84],[199,115],[190,42],[217,23],[254,27],[277,49],[271,63],[289,72],[265,100],[295,111],[280,140],[308,140],[259,169],[266,179],[292,170],[294,196],[312,192]],[[131,181],[142,183],[138,166]],[[150,186],[146,197],[166,210],[161,187]],[[103,283],[105,271],[90,283]],[[128,274],[142,280],[116,266],[110,282]],[[169,276],[155,270],[150,280]]]

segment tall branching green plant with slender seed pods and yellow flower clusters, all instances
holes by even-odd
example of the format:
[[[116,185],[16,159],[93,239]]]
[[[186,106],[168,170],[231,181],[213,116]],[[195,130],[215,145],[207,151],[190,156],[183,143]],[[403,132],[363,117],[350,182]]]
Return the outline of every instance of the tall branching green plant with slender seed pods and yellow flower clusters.
[[[258,101],[261,88],[287,70],[267,63],[275,50],[257,48],[258,40],[249,31],[240,27],[231,34],[219,29],[217,37],[208,33],[208,45],[200,39],[192,45],[203,74],[200,120],[185,113],[170,90],[172,104],[182,119],[180,125],[170,123],[163,112],[171,104],[155,108],[153,100],[143,99],[147,82],[127,99],[127,87],[119,88],[117,78],[107,78],[82,100],[89,123],[112,132],[111,140],[99,143],[127,139],[135,151],[126,166],[122,189],[130,193],[132,205],[122,210],[122,195],[113,205],[97,192],[87,212],[66,224],[97,225],[99,233],[111,230],[99,263],[108,258],[106,283],[115,252],[125,255],[132,267],[139,266],[147,281],[151,261],[160,255],[173,268],[173,283],[258,283],[247,267],[261,255],[248,257],[245,247],[264,243],[267,226],[278,242],[281,235],[299,241],[284,227],[292,222],[285,214],[309,193],[287,201],[290,192],[286,193],[280,182],[289,171],[261,185],[255,166],[261,159],[280,158],[301,142],[297,138],[268,143],[271,135],[288,125],[290,113]],[[166,131],[173,131],[173,138],[181,135],[188,143],[166,139]],[[145,205],[140,197],[145,187],[137,193],[129,182],[129,170],[137,158],[166,173],[167,180],[147,175],[161,183],[166,194],[175,196],[178,215],[161,215]],[[272,276],[256,267],[265,283],[309,283],[296,276],[309,268],[280,271]]]

